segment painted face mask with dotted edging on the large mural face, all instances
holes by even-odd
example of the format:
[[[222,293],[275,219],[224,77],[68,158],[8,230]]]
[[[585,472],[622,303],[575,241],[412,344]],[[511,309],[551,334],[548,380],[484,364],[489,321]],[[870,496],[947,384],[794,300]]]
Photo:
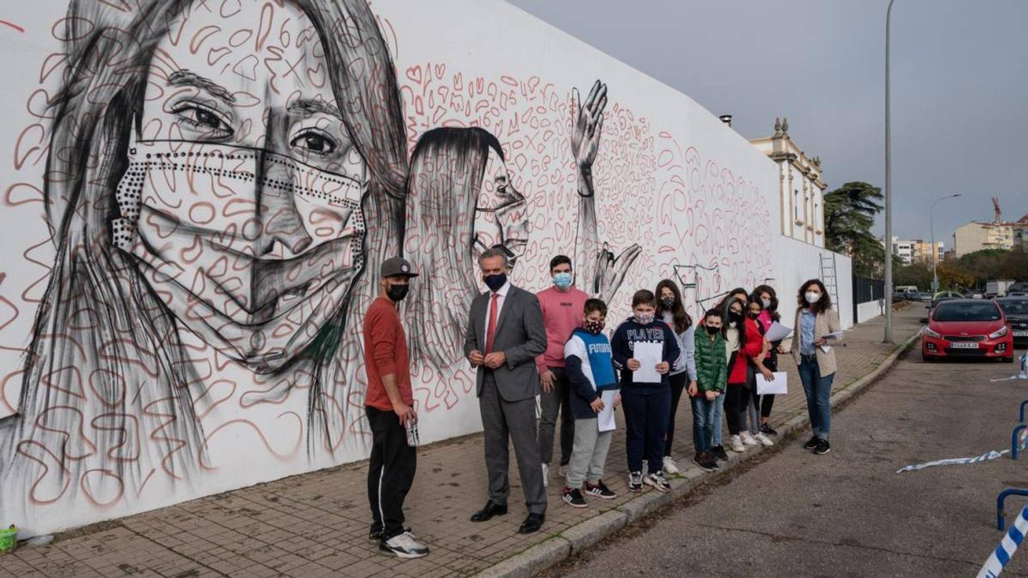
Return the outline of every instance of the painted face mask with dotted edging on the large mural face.
[[[273,371],[336,314],[363,263],[363,165],[333,169],[260,149],[136,143],[113,244],[190,330]]]

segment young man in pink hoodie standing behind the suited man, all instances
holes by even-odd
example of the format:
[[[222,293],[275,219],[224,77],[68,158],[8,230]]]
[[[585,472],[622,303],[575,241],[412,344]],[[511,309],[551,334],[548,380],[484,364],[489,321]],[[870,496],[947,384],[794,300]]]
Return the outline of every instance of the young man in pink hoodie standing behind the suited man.
[[[550,276],[553,286],[537,295],[543,308],[543,323],[546,325],[546,353],[536,358],[543,391],[541,403],[543,417],[539,422],[537,441],[543,462],[543,483],[550,475],[553,460],[553,434],[556,429],[557,413],[560,419],[560,475],[572,458],[575,442],[575,417],[572,413],[570,393],[571,383],[564,372],[564,344],[575,329],[582,326],[582,311],[589,295],[572,285],[572,260],[557,255],[550,260]]]

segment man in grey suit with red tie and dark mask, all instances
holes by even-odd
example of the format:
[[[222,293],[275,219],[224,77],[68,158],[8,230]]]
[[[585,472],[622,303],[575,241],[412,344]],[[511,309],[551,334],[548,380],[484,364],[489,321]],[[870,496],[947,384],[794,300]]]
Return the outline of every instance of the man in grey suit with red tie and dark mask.
[[[478,368],[478,407],[485,433],[489,500],[471,516],[485,521],[507,513],[510,495],[508,436],[514,442],[528,516],[519,534],[531,534],[546,519],[546,487],[536,442],[536,357],[546,351],[546,327],[539,299],[507,280],[507,255],[489,249],[478,258],[489,291],[471,303],[464,353]]]

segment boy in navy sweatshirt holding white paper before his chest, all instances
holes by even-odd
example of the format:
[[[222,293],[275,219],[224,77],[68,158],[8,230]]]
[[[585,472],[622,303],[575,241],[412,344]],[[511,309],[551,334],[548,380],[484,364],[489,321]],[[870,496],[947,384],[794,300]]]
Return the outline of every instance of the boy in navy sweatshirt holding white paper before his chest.
[[[657,299],[652,291],[642,289],[632,296],[632,317],[614,332],[611,349],[614,366],[621,371],[621,401],[625,407],[626,446],[628,450],[628,491],[642,492],[647,483],[660,492],[670,492],[671,485],[661,470],[651,470],[644,479],[642,458],[651,468],[664,461],[664,435],[671,410],[671,386],[667,372],[682,352],[674,332],[663,321],[655,319]],[[661,361],[656,370],[660,381],[635,383],[633,372],[640,367],[634,357],[635,345],[656,342],[662,346]]]

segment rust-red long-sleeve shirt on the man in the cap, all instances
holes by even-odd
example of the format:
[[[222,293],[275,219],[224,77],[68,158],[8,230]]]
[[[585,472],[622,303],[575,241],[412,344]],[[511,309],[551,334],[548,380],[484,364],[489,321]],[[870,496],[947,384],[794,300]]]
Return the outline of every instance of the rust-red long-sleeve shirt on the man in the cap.
[[[393,410],[381,377],[390,373],[396,374],[400,399],[407,405],[414,403],[410,388],[407,336],[400,324],[396,305],[387,297],[378,297],[372,301],[364,317],[364,371],[368,375],[368,391],[364,397],[366,407]]]

